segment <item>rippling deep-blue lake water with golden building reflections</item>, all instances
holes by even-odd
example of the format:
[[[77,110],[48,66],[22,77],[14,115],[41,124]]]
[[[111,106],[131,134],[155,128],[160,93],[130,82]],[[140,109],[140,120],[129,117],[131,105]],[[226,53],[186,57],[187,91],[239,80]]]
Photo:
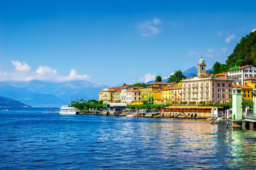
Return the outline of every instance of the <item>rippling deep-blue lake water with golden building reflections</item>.
[[[47,109],[0,108],[0,169],[256,169],[256,131],[231,122]]]

